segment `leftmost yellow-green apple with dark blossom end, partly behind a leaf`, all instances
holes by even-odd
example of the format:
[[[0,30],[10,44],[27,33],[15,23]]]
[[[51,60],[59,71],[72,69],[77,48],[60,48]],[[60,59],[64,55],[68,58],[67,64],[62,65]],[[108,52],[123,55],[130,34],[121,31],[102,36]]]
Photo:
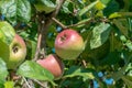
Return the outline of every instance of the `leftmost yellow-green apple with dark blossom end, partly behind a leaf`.
[[[10,56],[4,58],[9,69],[15,69],[26,56],[26,45],[23,38],[15,34],[12,43],[9,46]]]

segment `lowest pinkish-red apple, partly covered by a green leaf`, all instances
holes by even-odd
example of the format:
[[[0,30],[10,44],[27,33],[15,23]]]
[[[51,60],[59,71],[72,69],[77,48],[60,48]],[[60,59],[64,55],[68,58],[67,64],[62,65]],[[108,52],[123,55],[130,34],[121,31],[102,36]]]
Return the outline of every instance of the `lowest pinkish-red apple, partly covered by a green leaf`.
[[[64,63],[58,58],[57,55],[50,54],[43,59],[37,59],[36,63],[50,70],[54,75],[55,79],[58,79],[63,76]]]

